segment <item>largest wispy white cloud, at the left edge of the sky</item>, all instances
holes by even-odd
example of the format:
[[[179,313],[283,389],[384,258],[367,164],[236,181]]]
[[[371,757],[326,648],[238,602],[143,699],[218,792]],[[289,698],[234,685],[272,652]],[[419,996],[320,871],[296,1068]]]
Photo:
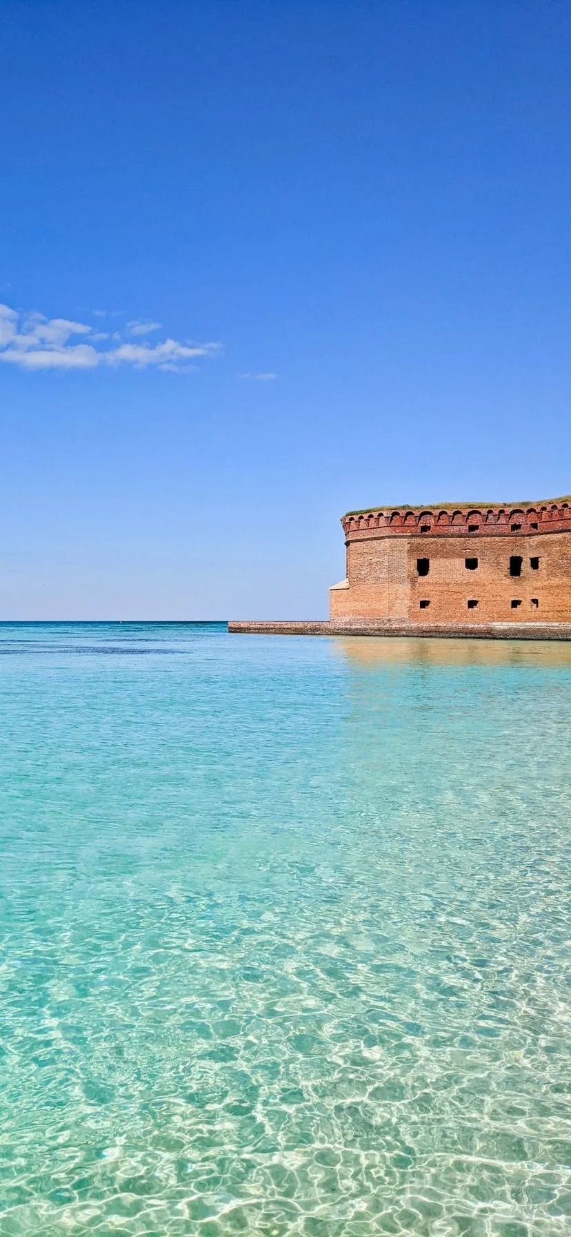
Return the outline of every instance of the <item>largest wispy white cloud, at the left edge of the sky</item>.
[[[158,330],[159,323],[131,322],[131,336]],[[103,345],[103,346],[101,346]],[[154,366],[184,372],[195,369],[199,357],[215,356],[220,344],[180,343],[166,339],[150,346],[127,343],[115,332],[111,343],[105,332],[68,318],[44,318],[40,313],[21,313],[0,304],[0,361],[22,370],[93,370],[98,365],[135,369]]]

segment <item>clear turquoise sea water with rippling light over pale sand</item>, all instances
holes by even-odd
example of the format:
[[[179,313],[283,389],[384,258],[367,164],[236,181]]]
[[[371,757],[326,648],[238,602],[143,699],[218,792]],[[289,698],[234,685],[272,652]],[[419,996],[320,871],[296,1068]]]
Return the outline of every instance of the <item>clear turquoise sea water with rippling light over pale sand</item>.
[[[0,1233],[571,1227],[571,646],[0,625]]]

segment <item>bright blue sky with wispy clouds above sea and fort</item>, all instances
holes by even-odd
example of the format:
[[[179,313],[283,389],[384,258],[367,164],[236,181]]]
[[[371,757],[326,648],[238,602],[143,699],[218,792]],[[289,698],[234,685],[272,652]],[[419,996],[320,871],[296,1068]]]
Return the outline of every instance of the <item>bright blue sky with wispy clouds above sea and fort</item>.
[[[320,617],[565,494],[571,9],[5,0],[0,618]]]

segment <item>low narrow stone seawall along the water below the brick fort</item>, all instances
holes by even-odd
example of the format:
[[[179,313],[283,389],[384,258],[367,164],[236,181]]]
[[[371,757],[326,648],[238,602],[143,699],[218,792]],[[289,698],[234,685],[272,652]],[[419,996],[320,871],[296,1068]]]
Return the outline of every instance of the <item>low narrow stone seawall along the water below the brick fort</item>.
[[[571,640],[571,622],[256,622],[231,621],[237,636],[420,636],[454,640]]]

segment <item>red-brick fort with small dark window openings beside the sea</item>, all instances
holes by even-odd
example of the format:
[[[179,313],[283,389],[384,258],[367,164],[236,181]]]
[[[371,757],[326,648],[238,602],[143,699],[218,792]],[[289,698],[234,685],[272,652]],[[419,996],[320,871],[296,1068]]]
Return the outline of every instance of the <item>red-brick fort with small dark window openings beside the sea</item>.
[[[570,502],[349,512],[331,621],[570,622]]]

